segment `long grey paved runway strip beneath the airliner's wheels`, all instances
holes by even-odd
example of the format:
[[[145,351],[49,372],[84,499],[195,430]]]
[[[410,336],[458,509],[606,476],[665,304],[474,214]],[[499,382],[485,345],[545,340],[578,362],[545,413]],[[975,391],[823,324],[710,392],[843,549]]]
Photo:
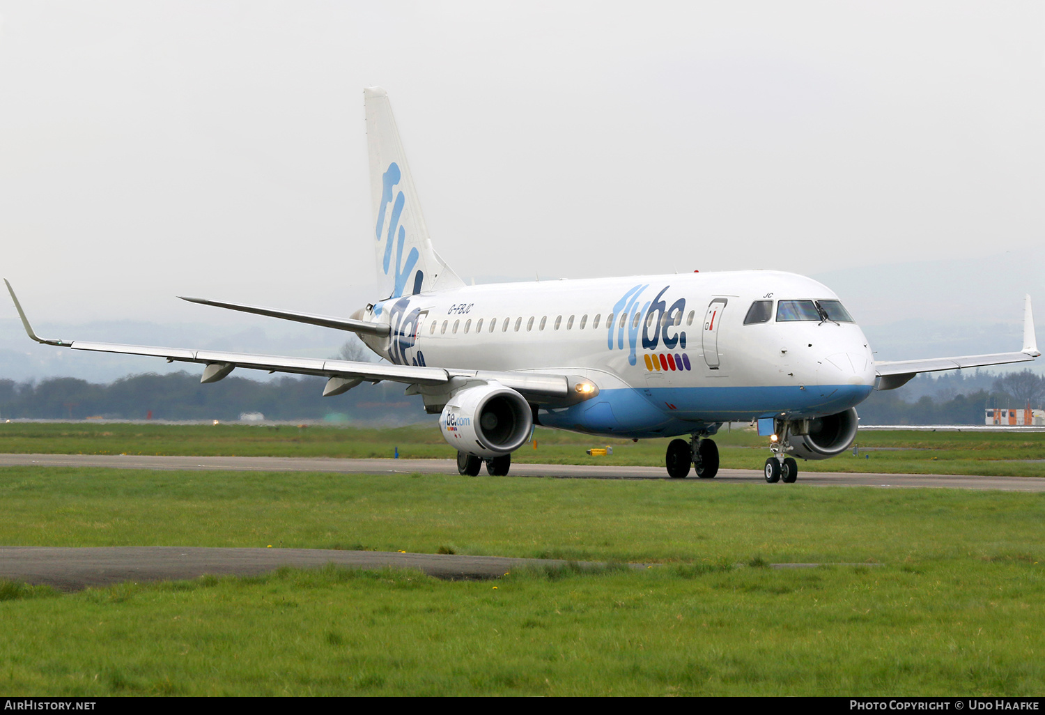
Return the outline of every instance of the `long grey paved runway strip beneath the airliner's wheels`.
[[[330,459],[326,457],[163,457],[152,455],[0,455],[0,466],[38,465],[72,467],[115,467],[123,469],[214,469],[229,471],[339,471],[379,475],[456,475],[451,459]],[[1045,491],[1045,479],[1034,477],[976,477],[965,475],[885,475],[842,471],[802,471],[796,484],[766,485],[766,488],[796,486],[948,487],[952,489],[1000,489],[1002,491]],[[485,471],[481,472],[485,476]],[[587,464],[512,464],[509,478],[552,479],[669,479],[664,467],[601,466]],[[500,478],[498,478],[500,479]],[[715,479],[686,480],[694,485],[765,483],[756,469],[720,469]]]

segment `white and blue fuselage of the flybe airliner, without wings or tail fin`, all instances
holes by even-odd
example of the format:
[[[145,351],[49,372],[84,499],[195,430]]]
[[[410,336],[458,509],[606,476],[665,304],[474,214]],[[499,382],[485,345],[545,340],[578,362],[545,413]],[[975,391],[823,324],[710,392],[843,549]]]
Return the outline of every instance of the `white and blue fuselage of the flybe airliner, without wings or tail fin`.
[[[776,271],[472,285],[378,302],[364,320],[391,335],[364,340],[398,365],[586,377],[597,397],[541,411],[539,422],[605,436],[820,417],[870,394],[874,359],[855,322],[777,322],[773,312],[745,325],[758,300],[837,296]]]

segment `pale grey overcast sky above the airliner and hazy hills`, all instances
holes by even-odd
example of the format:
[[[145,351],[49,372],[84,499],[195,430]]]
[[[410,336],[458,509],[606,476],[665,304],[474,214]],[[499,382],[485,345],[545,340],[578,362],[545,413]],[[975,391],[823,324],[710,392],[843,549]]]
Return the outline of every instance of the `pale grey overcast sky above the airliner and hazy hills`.
[[[373,85],[466,279],[1045,235],[1041,2],[23,0],[0,1],[0,274],[41,321],[218,318],[175,295],[348,315],[377,297]]]

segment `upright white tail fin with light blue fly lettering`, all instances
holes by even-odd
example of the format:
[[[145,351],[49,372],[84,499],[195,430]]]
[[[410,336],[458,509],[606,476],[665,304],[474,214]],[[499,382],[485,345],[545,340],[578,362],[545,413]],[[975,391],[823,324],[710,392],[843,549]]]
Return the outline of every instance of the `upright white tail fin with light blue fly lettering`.
[[[432,248],[388,92],[368,87],[363,96],[367,108],[378,287],[382,295],[398,298],[464,285]]]

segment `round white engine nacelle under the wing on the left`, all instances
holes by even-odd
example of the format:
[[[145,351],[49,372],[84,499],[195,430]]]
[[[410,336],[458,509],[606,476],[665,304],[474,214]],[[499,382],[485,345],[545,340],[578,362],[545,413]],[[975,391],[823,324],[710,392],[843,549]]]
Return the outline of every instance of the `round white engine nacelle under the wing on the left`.
[[[458,452],[490,459],[526,443],[533,413],[515,390],[488,383],[455,393],[439,417],[439,429]]]

